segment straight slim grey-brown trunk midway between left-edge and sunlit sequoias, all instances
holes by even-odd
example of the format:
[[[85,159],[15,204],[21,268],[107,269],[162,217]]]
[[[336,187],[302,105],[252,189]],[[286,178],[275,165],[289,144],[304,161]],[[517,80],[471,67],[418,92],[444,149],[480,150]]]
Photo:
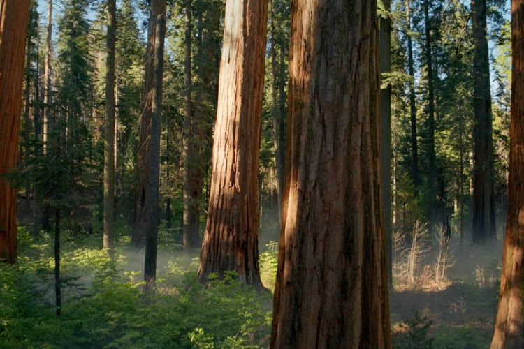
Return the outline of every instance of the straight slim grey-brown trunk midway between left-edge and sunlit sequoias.
[[[115,247],[115,40],[116,0],[108,0],[103,152],[103,248]]]

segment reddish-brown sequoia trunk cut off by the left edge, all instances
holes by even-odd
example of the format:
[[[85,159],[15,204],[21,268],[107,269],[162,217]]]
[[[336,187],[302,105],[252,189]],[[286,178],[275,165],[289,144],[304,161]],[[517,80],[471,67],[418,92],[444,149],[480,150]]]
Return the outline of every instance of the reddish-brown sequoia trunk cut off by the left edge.
[[[16,164],[29,0],[0,0],[0,260],[17,255],[16,191],[1,177]]]

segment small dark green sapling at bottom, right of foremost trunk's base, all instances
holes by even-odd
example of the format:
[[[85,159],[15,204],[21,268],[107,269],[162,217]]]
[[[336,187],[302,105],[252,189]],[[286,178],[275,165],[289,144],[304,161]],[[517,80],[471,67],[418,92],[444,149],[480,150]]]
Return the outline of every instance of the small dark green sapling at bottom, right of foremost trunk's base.
[[[393,348],[432,348],[432,338],[428,338],[428,329],[432,321],[426,316],[415,313],[414,317],[400,324],[400,332],[393,333]]]

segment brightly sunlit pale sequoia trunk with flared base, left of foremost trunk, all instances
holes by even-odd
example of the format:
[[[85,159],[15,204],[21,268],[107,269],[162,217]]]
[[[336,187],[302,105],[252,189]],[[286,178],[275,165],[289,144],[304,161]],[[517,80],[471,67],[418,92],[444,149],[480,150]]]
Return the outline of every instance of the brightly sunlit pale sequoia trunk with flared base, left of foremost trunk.
[[[214,126],[212,179],[198,277],[259,274],[259,150],[268,0],[228,0]]]

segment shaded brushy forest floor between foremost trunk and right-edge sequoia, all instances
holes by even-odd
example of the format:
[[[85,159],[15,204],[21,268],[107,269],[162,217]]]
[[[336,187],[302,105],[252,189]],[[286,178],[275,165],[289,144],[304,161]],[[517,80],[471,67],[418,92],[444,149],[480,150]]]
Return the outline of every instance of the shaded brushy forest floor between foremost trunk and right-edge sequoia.
[[[393,339],[398,348],[489,348],[497,315],[502,242],[488,248],[465,246],[446,282],[419,279],[390,295]],[[430,269],[432,266],[428,266]],[[430,345],[430,346],[429,346]]]

